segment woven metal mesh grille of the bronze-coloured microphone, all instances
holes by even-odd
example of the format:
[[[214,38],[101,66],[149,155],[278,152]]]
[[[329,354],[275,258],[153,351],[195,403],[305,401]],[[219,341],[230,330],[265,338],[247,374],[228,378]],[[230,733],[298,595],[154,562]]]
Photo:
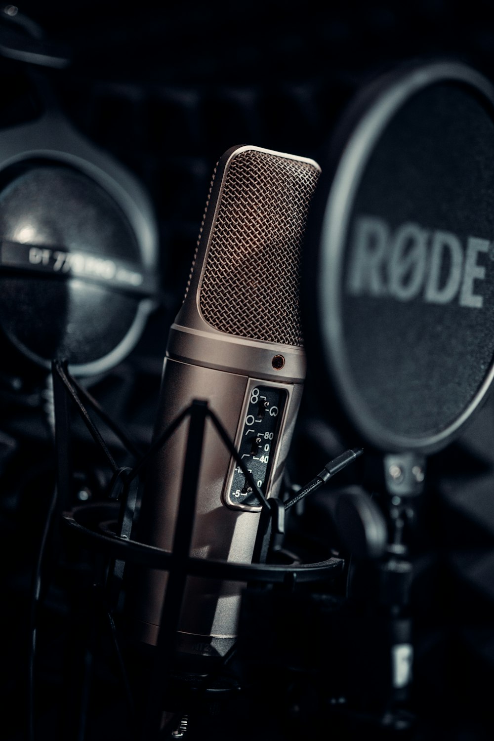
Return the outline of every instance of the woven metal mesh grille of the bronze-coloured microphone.
[[[214,328],[303,345],[301,248],[318,176],[310,162],[258,150],[232,159],[199,296]]]

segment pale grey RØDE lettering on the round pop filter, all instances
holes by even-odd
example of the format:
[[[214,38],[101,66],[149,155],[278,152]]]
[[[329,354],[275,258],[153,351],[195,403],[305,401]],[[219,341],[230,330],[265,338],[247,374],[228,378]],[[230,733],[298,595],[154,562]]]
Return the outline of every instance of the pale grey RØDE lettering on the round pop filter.
[[[353,229],[347,293],[391,296],[411,301],[421,294],[430,304],[481,309],[489,239],[469,236],[466,244],[452,232],[406,222],[395,230],[376,216],[359,216]],[[482,265],[484,262],[484,265]]]

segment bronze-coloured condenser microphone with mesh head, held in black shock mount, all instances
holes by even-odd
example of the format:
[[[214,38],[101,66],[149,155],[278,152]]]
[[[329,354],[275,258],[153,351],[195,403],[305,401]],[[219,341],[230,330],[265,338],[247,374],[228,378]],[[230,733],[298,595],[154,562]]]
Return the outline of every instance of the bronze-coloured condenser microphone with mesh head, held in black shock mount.
[[[265,496],[280,491],[301,400],[301,247],[320,168],[260,147],[227,150],[213,173],[181,309],[170,328],[155,439],[194,399],[207,401]],[[187,425],[153,457],[138,539],[167,551],[181,491]],[[252,562],[261,502],[207,422],[191,556]],[[165,571],[138,578],[134,635],[156,645]],[[187,577],[177,649],[222,656],[236,638],[238,582]]]

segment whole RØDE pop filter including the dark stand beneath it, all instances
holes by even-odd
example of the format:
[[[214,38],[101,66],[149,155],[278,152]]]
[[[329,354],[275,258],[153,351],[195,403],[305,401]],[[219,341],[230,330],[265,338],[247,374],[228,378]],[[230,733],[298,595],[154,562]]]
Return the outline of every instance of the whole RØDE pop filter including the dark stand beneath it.
[[[324,416],[364,446],[388,531],[384,557],[350,572],[350,599],[373,615],[350,637],[350,708],[353,681],[364,727],[398,734],[415,722],[410,534],[427,456],[459,436],[494,376],[493,147],[492,84],[441,59],[370,82],[318,155],[302,276],[309,374]],[[354,519],[340,496],[343,535]]]

